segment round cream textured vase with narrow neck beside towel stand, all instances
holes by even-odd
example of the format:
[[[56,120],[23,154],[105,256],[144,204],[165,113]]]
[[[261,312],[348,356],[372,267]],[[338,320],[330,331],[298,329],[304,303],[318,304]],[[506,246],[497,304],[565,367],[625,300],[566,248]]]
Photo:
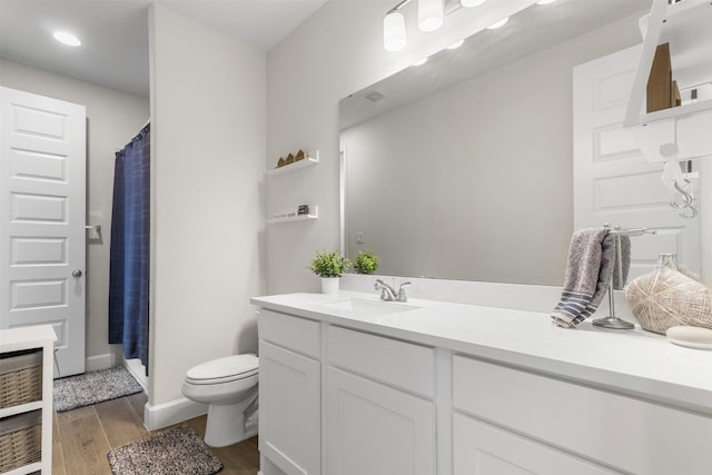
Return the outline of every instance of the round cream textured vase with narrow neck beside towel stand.
[[[625,298],[641,327],[659,334],[674,326],[712,328],[712,289],[661,254],[657,268],[625,288]]]

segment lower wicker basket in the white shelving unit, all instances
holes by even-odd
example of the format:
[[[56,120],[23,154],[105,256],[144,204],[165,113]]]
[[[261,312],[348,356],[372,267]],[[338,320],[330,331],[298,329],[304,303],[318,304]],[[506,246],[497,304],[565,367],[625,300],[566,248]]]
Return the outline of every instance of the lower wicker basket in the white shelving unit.
[[[42,459],[42,412],[0,419],[0,473]]]

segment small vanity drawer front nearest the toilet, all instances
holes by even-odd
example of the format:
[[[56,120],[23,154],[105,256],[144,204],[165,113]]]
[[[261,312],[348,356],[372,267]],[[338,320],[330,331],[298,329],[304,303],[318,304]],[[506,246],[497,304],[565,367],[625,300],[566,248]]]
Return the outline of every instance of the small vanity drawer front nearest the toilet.
[[[257,331],[261,340],[314,358],[322,356],[318,321],[263,308],[257,318]]]

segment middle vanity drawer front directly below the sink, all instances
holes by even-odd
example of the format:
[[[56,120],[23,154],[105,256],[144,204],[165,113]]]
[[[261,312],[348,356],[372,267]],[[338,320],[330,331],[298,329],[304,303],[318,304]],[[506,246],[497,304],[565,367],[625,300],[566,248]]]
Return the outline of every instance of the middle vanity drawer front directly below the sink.
[[[433,398],[435,348],[329,326],[328,364]]]

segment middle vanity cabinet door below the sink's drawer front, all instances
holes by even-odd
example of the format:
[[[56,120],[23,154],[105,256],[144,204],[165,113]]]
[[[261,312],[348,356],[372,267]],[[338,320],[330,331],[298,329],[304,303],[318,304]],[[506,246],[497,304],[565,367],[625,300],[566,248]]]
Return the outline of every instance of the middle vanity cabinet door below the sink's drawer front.
[[[432,475],[435,404],[329,367],[326,474]]]

